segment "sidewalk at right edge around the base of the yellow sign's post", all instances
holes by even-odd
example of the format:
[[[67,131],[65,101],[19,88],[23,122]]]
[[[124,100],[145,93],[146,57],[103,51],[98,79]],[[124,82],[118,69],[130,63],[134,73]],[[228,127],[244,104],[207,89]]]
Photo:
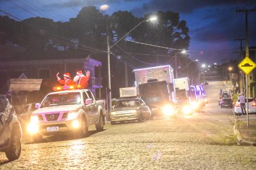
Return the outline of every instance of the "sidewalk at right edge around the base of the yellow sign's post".
[[[235,116],[234,134],[239,145],[256,146],[256,115],[249,115],[249,127],[246,116]]]

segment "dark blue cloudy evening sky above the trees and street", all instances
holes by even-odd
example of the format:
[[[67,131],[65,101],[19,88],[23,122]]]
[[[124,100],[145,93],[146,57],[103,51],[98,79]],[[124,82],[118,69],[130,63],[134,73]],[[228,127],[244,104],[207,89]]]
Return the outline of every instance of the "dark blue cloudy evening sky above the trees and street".
[[[0,9],[20,19],[35,17],[33,13],[64,22],[76,17],[83,6],[100,9],[104,4],[109,8],[101,12],[108,15],[118,10],[136,17],[160,10],[179,12],[189,27],[189,57],[205,64],[237,59],[240,41],[234,39],[245,38],[245,13],[237,13],[236,8],[256,9],[255,0],[0,0]],[[249,46],[256,46],[256,11],[248,13],[248,29]]]

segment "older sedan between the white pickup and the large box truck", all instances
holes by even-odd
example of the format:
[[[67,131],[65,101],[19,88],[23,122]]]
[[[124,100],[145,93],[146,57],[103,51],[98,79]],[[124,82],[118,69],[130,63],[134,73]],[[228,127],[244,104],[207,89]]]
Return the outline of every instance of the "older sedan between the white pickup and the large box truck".
[[[149,119],[151,115],[150,108],[140,97],[120,99],[115,108],[111,111],[110,122],[134,121],[143,122]]]

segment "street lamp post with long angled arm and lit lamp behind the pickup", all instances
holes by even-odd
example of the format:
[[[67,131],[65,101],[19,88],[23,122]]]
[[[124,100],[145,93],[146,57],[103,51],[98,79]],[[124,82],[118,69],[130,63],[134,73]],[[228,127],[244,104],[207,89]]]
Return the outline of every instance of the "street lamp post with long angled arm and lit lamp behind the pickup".
[[[116,41],[112,46],[109,46],[109,34],[107,35],[107,44],[108,44],[108,113],[111,112],[111,73],[110,73],[110,50],[111,48],[113,48],[113,46],[115,46],[119,41],[121,41],[122,39],[125,38],[125,36],[127,36],[130,32],[132,32],[134,29],[136,29],[136,27],[138,27],[140,24],[142,24],[143,22],[148,22],[148,21],[153,21],[156,20],[157,17],[152,17],[149,18],[148,20],[143,20],[141,21],[139,24],[137,24],[135,27],[133,27],[131,29],[131,31],[127,32],[124,36],[122,36],[122,38],[118,39],[118,41]],[[108,32],[108,27],[107,27],[107,32]],[[109,115],[109,114],[108,114]]]

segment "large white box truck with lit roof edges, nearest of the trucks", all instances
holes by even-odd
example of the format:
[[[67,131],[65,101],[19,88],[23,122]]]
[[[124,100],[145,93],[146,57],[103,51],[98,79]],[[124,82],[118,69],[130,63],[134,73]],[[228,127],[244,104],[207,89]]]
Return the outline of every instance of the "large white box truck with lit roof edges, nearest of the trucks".
[[[171,66],[134,69],[140,97],[150,107],[152,115],[175,115],[175,85]]]

